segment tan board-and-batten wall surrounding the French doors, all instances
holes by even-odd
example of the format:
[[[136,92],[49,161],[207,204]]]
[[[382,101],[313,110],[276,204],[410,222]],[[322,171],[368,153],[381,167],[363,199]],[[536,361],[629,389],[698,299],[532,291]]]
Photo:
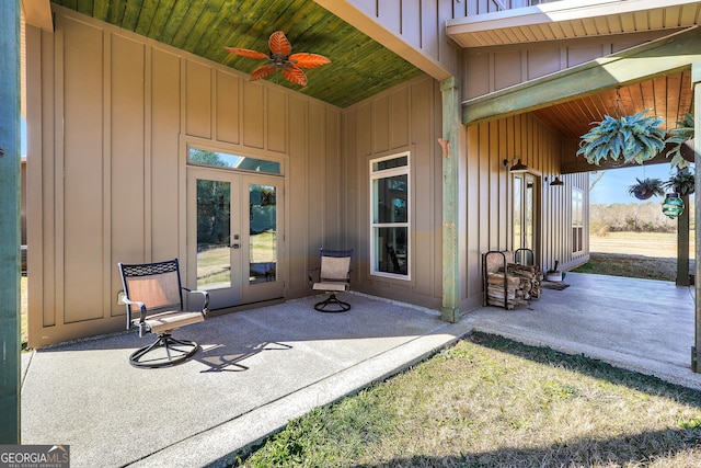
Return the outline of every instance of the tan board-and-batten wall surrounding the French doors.
[[[285,296],[309,295],[344,230],[341,110],[53,8],[26,27],[30,346],[123,329],[117,262],[185,264],[187,144],[284,164]]]

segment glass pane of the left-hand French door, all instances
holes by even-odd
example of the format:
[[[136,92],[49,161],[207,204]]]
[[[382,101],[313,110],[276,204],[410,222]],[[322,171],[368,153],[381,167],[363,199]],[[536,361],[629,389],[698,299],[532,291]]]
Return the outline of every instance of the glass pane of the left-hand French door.
[[[231,183],[197,180],[197,287],[231,287]]]

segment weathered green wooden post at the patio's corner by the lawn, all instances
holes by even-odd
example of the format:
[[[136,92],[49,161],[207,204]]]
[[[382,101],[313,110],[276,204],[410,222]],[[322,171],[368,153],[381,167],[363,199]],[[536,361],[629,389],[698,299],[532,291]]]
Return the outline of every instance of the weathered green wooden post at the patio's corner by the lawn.
[[[440,82],[443,96],[443,320],[460,319],[459,162],[460,93],[455,77]]]

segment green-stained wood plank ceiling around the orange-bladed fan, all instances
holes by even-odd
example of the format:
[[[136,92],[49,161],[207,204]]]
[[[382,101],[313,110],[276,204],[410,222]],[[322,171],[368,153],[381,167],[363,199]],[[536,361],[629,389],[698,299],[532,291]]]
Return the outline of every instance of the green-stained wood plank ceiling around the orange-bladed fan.
[[[284,31],[292,53],[321,54],[331,64],[307,69],[307,87],[275,72],[266,80],[346,107],[410,80],[421,70],[312,0],[54,0],[123,30],[251,73],[263,61],[230,55],[226,46],[269,53]]]

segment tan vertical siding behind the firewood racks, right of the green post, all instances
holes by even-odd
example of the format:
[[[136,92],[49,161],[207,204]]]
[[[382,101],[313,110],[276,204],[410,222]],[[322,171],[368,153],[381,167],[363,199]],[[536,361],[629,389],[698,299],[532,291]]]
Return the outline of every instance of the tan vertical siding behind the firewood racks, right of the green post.
[[[482,301],[482,254],[490,250],[513,250],[513,181],[504,167],[518,156],[537,176],[537,249],[543,270],[570,269],[588,258],[588,220],[585,216],[585,246],[572,252],[572,189],[584,192],[588,212],[588,173],[561,175],[560,136],[532,114],[520,114],[466,127],[467,141],[467,226],[461,229],[467,244],[467,297],[461,308],[470,310]],[[555,175],[563,186],[550,186]],[[545,181],[548,178],[548,181]]]

